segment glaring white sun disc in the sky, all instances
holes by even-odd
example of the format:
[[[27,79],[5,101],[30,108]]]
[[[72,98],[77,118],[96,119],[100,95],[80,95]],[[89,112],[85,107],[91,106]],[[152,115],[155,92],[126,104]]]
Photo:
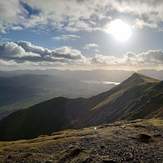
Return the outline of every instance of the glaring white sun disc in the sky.
[[[113,37],[120,42],[128,41],[132,35],[132,29],[130,25],[128,25],[121,19],[111,21],[106,26],[106,31],[112,34]]]

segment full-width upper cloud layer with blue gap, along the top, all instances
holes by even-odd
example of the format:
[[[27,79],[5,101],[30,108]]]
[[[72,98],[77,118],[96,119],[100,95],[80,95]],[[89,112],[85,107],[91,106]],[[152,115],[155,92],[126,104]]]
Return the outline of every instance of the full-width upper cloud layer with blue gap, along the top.
[[[156,28],[163,22],[163,1],[1,0],[0,30],[41,26],[73,32],[101,30],[119,14],[133,19],[135,27]]]

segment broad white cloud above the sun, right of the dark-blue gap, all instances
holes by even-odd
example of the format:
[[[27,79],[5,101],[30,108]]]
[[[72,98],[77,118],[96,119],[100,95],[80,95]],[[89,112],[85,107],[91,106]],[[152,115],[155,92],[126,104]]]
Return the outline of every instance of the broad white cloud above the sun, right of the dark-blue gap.
[[[98,20],[108,21],[108,17],[113,17],[113,12],[134,16],[144,21],[144,25],[149,24],[148,27],[163,22],[162,0],[103,0],[102,3],[101,0],[26,0],[26,2],[42,11],[43,21],[49,19],[55,22],[56,26],[67,21],[65,29],[70,31],[97,29],[101,27]]]

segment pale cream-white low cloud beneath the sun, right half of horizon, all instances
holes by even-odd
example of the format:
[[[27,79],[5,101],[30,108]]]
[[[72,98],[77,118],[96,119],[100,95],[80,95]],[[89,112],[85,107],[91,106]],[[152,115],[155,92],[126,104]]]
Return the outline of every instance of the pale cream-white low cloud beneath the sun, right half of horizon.
[[[163,69],[163,51],[148,50],[142,53],[129,52],[123,57],[95,55],[91,58],[91,63],[109,67],[145,69],[161,68]]]

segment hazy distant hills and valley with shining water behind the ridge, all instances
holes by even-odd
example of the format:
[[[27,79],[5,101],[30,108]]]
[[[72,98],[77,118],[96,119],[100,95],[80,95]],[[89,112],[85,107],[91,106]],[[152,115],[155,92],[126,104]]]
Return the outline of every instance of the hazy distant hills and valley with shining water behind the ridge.
[[[163,80],[163,71],[140,73]],[[0,71],[0,119],[20,108],[63,96],[91,97],[113,88],[133,71],[124,70],[16,70]]]

